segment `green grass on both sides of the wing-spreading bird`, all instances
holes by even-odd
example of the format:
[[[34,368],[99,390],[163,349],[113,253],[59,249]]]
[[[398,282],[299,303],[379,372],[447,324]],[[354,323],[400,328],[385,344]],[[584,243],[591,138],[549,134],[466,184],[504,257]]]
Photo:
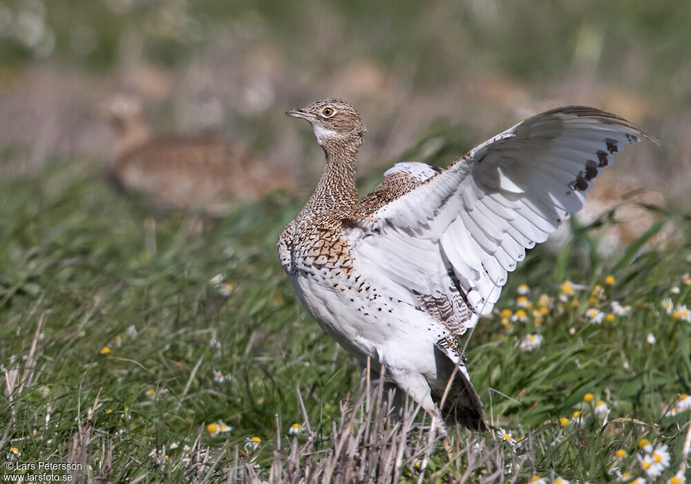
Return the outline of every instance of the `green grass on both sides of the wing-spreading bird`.
[[[178,482],[195,472],[201,481],[225,481],[222,469],[239,463],[243,472],[250,460],[265,479],[276,422],[283,462],[293,439],[287,430],[305,425],[298,390],[316,436],[310,445],[332,447],[339,402],[357,389],[359,372],[305,314],[278,264],[276,237],[300,205],[275,197],[200,230],[194,216],[151,218],[93,168],[56,165],[0,185],[3,456],[69,458],[92,467],[76,478],[113,482]],[[619,448],[629,452],[622,469],[640,474],[633,454],[643,437],[669,445],[678,467],[689,415],[663,413],[691,387],[691,324],[665,313],[661,300],[691,299],[682,281],[691,223],[675,221],[686,237],[676,248],[584,259],[574,255],[578,245],[587,246],[582,234],[560,254],[533,250],[509,279],[496,314],[481,320],[468,346],[471,377],[495,425],[524,439],[516,454],[491,433],[473,442],[506,463],[518,456],[522,481],[533,473],[607,481]],[[229,296],[210,282],[216,274],[232,284]],[[604,283],[607,274],[616,277],[614,286]],[[567,279],[585,289],[560,311]],[[530,286],[535,308],[542,294],[553,307],[541,324],[529,310],[528,322],[513,322],[507,331],[499,310],[515,313],[519,283]],[[604,287],[596,307],[609,312],[617,300],[631,306],[630,315],[585,322],[596,284]],[[674,286],[679,294],[670,292]],[[520,339],[536,332],[545,338],[542,346],[520,350]],[[646,342],[649,333],[655,344]],[[214,371],[229,380],[214,382]],[[585,393],[611,409],[604,428],[583,402]],[[562,429],[559,419],[578,409],[589,418]],[[232,430],[209,434],[207,426],[220,421]],[[246,454],[252,436],[262,443]],[[183,460],[184,445],[193,447],[191,462],[206,458],[208,467]],[[163,448],[164,463],[149,455]],[[465,455],[445,467],[438,444],[426,478],[460,478],[469,465]],[[482,481],[482,468],[471,472],[471,482]],[[405,475],[419,472],[410,467]]]

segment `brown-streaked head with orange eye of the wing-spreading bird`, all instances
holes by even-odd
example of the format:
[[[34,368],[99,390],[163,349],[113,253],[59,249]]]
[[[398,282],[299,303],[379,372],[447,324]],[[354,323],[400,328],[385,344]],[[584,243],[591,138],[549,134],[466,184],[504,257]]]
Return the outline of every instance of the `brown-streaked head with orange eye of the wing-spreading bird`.
[[[339,99],[313,102],[301,109],[291,109],[286,114],[309,121],[316,141],[322,146],[332,142],[361,142],[362,134],[367,131],[354,106]]]

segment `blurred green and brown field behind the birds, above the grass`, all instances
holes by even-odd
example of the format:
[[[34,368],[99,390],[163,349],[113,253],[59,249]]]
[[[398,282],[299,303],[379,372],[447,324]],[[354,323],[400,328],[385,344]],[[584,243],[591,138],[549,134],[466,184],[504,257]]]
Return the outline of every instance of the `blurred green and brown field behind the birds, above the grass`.
[[[689,46],[683,0],[4,0],[0,174],[107,159],[97,104],[121,91],[158,131],[220,131],[305,187],[321,152],[283,112],[317,98],[358,106],[365,174],[432,136],[448,162],[531,113],[589,104],[661,141],[626,171],[679,200]]]

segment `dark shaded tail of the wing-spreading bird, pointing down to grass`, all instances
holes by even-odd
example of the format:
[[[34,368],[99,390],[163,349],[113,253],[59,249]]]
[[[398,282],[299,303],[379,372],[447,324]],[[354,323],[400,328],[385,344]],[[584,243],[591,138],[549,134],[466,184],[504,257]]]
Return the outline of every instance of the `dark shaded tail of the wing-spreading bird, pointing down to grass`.
[[[471,430],[485,431],[487,425],[482,402],[468,378],[465,362],[462,357],[449,353],[451,351],[448,348],[435,346],[437,380],[430,384],[432,397],[437,404],[442,405],[442,416],[447,423],[460,423]]]

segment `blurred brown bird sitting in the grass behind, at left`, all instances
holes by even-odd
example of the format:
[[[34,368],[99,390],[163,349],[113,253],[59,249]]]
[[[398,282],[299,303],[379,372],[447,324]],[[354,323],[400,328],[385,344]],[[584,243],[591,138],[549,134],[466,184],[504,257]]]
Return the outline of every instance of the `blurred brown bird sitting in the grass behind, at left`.
[[[296,192],[291,176],[220,136],[153,136],[134,97],[116,95],[101,111],[115,131],[108,178],[156,210],[222,216],[240,201]]]

